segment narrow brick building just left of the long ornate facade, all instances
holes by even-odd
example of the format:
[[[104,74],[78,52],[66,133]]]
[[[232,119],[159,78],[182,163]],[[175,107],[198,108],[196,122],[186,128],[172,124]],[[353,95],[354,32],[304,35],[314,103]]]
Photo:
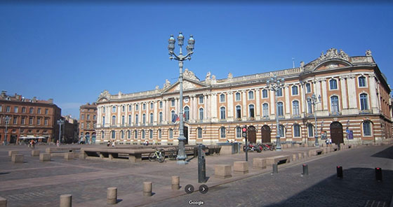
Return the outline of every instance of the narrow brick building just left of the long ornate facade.
[[[97,104],[86,103],[79,107],[79,138],[86,143],[95,143]]]

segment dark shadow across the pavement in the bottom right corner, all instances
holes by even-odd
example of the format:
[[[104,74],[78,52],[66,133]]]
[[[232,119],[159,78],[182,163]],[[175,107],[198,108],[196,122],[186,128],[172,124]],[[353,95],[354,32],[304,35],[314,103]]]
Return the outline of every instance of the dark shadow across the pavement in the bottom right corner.
[[[307,176],[301,179],[307,179]],[[393,194],[393,171],[382,169],[382,182],[375,169],[343,169],[343,178],[333,175],[295,196],[269,206],[365,206],[367,201],[385,201]],[[283,192],[285,193],[285,192]]]

